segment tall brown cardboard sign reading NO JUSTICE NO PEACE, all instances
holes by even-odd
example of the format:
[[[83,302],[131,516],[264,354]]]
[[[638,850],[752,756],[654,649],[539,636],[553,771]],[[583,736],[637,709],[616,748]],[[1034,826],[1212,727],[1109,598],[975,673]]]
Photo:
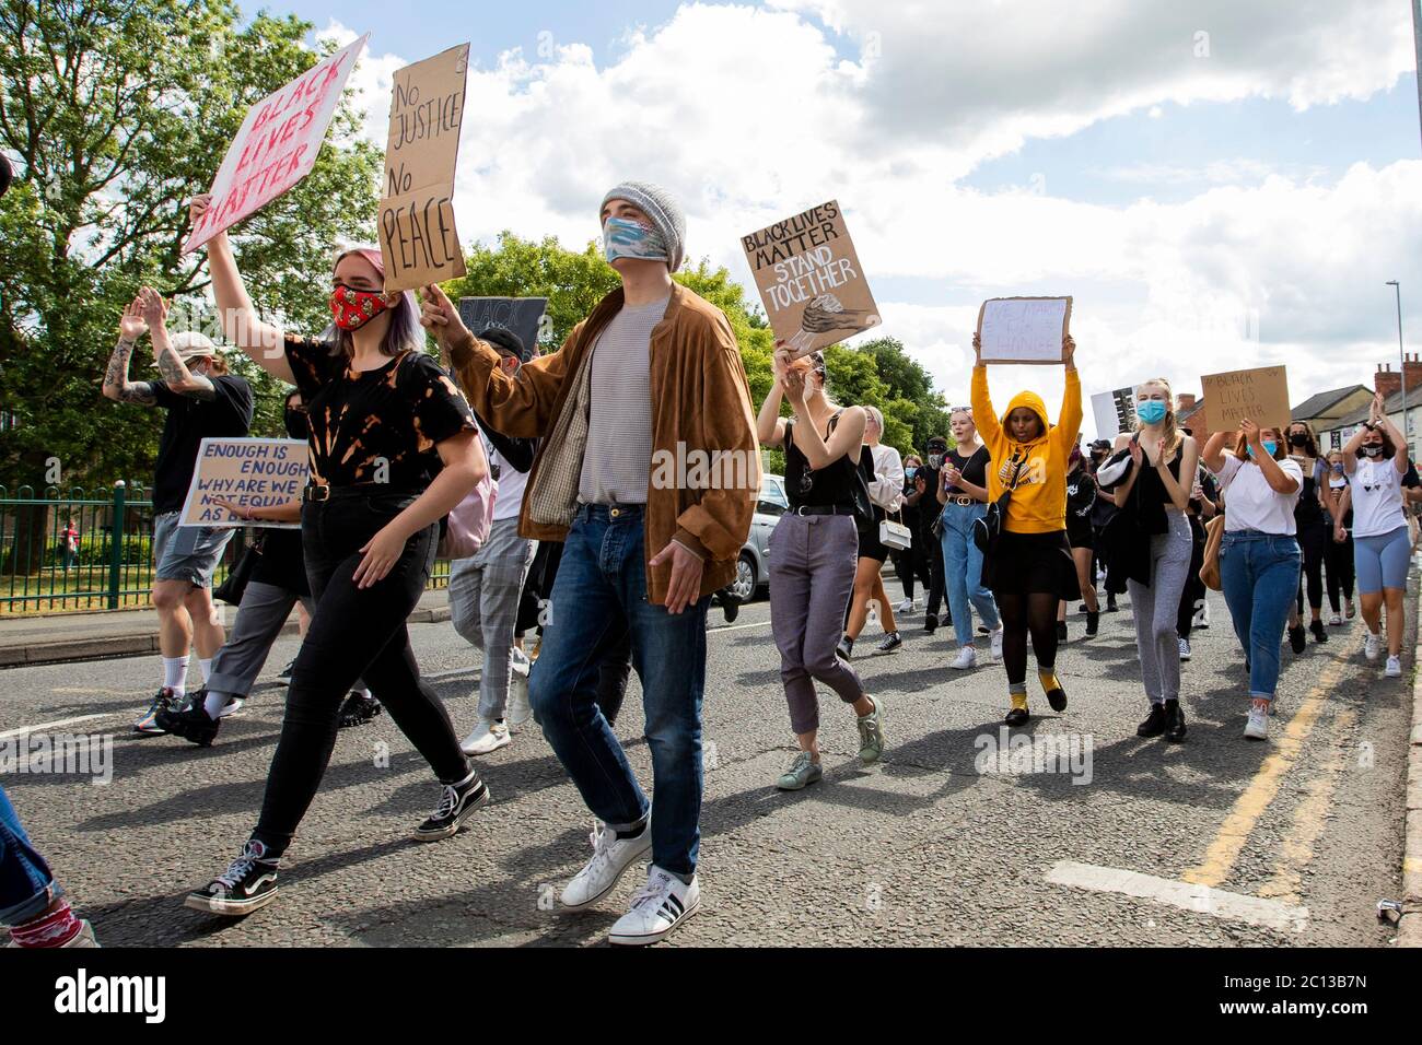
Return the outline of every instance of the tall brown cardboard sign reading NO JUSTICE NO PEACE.
[[[465,274],[454,227],[454,173],[469,44],[395,73],[380,200],[385,293]]]

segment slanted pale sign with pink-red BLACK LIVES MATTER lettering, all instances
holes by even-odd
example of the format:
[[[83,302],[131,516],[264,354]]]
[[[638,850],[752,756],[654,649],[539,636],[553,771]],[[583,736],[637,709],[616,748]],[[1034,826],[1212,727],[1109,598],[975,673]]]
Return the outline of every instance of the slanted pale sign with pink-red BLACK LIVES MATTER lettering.
[[[311,173],[346,80],[368,38],[367,33],[321,58],[247,109],[212,182],[212,205],[193,226],[182,253],[196,250]]]

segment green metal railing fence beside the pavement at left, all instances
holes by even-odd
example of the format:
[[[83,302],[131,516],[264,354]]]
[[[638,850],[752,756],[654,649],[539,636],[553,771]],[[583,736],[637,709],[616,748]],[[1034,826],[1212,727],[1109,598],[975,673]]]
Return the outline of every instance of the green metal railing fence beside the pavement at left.
[[[237,530],[215,584],[249,539]],[[154,580],[152,492],[118,482],[88,492],[0,485],[0,616],[119,610],[149,603]],[[431,587],[445,587],[449,563],[435,563]]]

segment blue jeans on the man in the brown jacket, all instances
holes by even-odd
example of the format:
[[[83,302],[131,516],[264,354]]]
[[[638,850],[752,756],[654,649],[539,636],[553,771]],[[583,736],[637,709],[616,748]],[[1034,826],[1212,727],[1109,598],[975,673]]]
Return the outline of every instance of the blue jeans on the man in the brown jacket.
[[[597,707],[599,668],[619,640],[631,636],[657,799],[651,860],[685,877],[695,873],[701,845],[701,692],[711,597],[677,616],[647,601],[643,515],[638,505],[579,508],[529,675],[529,704],[593,815],[614,829],[638,823],[647,798]]]

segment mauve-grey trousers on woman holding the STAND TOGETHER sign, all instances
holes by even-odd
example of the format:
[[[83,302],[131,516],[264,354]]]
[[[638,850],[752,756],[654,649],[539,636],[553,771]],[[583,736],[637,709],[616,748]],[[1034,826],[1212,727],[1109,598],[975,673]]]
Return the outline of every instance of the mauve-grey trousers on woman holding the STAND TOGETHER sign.
[[[859,530],[848,515],[782,515],[769,542],[771,631],[781,651],[781,681],[796,735],[819,728],[815,682],[846,704],[865,695],[835,648],[855,589]]]

